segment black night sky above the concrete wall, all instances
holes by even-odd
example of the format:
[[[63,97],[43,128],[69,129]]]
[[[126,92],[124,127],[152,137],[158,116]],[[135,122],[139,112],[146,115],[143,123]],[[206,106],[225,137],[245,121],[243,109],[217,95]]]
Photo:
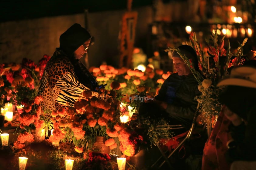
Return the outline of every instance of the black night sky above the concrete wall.
[[[163,0],[168,3],[174,0]],[[186,0],[179,0],[186,1]],[[133,0],[132,8],[153,5],[154,0]],[[1,0],[0,22],[47,16],[126,9],[127,0]]]

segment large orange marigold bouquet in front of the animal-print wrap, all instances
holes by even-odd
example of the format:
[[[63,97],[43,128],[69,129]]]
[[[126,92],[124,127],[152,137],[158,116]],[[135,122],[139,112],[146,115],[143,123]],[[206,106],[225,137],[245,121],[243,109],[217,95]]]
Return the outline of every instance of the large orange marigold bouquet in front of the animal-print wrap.
[[[108,140],[106,146],[111,149],[116,148],[117,144],[111,140],[118,136],[114,125],[119,121],[118,107],[120,102],[114,98],[116,93],[104,88],[99,89],[99,97],[92,97],[90,91],[85,91],[85,99],[75,102],[74,107],[62,107],[52,112],[54,131],[63,133],[63,138],[50,141],[61,140],[62,142],[72,142],[76,151],[88,152],[92,150],[95,136],[105,136]],[[113,97],[106,98],[106,95]],[[56,133],[57,133],[56,132]]]

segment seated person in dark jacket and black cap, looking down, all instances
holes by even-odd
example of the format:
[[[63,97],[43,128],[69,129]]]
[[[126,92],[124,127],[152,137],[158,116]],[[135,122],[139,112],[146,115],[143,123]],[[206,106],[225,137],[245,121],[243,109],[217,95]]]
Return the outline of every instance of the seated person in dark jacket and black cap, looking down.
[[[178,48],[187,58],[192,59],[193,65],[198,69],[198,60],[194,49],[189,45],[181,45]],[[140,110],[141,112],[147,110],[147,113],[144,112],[144,114],[150,116],[167,117],[171,124],[181,124],[185,130],[188,130],[198,104],[194,98],[201,92],[198,90],[198,82],[189,66],[176,51],[172,53],[172,60],[177,72],[171,74],[164,81],[154,102],[142,105]]]

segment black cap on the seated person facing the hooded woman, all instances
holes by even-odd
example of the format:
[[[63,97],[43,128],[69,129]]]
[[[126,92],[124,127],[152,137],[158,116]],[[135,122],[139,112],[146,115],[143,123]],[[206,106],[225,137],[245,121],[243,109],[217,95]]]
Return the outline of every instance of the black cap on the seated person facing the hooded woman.
[[[187,58],[192,59],[193,65],[195,67],[196,70],[199,69],[198,67],[198,59],[197,59],[197,55],[195,50],[189,46],[189,45],[181,45],[178,47],[178,49],[180,50],[180,52],[185,55]],[[173,51],[171,54],[171,58],[173,57],[179,57],[181,58],[181,56],[178,54],[177,51]]]

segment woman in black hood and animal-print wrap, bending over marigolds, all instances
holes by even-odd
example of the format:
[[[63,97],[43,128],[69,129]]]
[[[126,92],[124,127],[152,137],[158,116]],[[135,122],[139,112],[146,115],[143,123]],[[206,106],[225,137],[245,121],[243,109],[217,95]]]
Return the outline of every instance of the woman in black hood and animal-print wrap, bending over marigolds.
[[[60,47],[47,62],[39,85],[38,94],[43,96],[45,109],[73,106],[85,90],[98,95],[95,92],[98,83],[79,61],[87,53],[90,42],[90,33],[77,23],[61,34]]]

